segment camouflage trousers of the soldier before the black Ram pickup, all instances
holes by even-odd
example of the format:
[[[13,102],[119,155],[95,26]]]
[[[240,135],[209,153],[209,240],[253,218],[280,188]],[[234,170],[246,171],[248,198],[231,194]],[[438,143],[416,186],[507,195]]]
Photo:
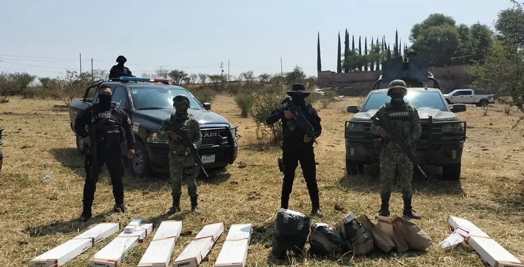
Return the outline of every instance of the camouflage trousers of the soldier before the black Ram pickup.
[[[197,197],[196,177],[199,168],[191,155],[175,155],[169,153],[169,175],[171,176],[171,195],[179,197],[182,194],[182,179],[188,185],[188,195]]]

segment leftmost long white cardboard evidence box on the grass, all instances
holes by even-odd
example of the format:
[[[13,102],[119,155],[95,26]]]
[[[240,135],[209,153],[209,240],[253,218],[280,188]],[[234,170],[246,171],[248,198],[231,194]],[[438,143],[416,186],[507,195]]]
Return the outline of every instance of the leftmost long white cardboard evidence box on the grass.
[[[119,223],[101,223],[28,262],[30,267],[58,267],[120,229]]]

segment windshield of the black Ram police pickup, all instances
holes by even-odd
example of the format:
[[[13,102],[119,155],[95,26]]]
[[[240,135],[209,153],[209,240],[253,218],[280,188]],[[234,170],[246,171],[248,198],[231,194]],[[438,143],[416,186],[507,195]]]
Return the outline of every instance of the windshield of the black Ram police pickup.
[[[189,98],[190,109],[202,109],[200,103],[183,89],[132,87],[129,91],[135,109],[172,109],[173,98],[177,95]]]

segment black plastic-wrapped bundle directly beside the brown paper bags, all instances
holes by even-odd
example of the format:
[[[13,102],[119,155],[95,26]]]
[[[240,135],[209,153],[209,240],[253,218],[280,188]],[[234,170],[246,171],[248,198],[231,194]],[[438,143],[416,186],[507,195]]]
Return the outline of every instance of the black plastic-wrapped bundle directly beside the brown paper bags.
[[[344,239],[348,249],[352,250],[356,256],[369,255],[373,253],[373,237],[364,228],[355,215],[350,213],[340,222],[336,223],[335,228]]]

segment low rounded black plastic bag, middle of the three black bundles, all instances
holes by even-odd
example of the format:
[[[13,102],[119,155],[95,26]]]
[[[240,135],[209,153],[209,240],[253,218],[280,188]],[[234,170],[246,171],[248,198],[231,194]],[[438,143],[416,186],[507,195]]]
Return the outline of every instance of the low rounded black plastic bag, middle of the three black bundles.
[[[333,256],[340,254],[346,248],[339,231],[324,223],[316,223],[311,226],[309,245],[313,254],[330,254]]]

